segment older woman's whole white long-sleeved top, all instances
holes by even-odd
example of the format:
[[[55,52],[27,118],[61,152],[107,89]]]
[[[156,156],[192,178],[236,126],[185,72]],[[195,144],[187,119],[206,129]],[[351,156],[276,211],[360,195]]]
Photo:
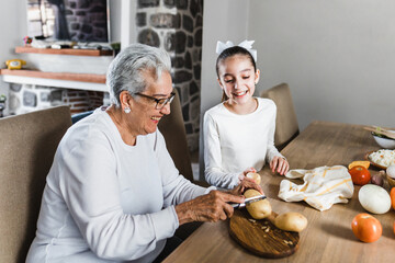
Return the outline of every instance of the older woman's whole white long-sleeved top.
[[[210,190],[179,175],[160,132],[128,146],[98,108],[59,144],[26,262],[150,262],[179,227],[174,205]]]

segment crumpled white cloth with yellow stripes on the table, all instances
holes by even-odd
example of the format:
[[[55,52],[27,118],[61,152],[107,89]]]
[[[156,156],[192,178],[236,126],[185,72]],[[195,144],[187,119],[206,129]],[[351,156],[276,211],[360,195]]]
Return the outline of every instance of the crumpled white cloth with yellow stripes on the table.
[[[351,175],[342,165],[290,170],[285,176],[303,178],[304,184],[282,180],[279,197],[286,202],[305,201],[318,210],[327,210],[336,203],[348,203],[347,198],[353,194]]]

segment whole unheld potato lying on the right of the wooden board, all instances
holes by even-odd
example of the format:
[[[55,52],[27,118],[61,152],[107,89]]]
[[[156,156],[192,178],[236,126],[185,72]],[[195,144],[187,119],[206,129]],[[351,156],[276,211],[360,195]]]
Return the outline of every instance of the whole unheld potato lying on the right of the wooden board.
[[[307,227],[307,218],[298,213],[289,211],[275,217],[274,226],[284,231],[301,232]]]

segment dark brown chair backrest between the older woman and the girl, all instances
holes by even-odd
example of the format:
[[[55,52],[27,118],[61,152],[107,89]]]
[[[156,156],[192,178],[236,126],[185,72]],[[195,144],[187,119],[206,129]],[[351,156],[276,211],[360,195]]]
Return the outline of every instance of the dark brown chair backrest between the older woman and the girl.
[[[191,157],[188,148],[187,133],[180,96],[176,90],[176,96],[170,104],[171,113],[160,119],[158,128],[162,133],[166,146],[180,173],[193,182]]]

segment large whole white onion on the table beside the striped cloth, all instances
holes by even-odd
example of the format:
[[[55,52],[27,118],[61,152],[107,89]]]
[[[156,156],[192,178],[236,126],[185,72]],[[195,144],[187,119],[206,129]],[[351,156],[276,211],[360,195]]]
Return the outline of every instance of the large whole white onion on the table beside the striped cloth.
[[[391,208],[390,194],[374,184],[363,185],[358,193],[358,199],[364,209],[373,214],[384,214]]]

